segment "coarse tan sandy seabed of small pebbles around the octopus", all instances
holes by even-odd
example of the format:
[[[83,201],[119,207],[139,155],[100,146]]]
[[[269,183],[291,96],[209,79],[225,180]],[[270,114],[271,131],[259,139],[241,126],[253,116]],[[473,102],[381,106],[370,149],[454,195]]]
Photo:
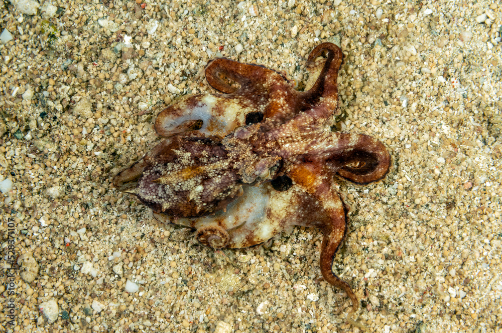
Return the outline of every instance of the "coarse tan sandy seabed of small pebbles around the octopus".
[[[502,332],[498,2],[3,6],[0,331]],[[345,54],[337,126],[392,155],[383,181],[337,180],[351,210],[334,270],[356,325],[318,230],[215,251],[111,184],[160,140],[157,113],[212,91],[208,60],[301,89],[322,42]]]

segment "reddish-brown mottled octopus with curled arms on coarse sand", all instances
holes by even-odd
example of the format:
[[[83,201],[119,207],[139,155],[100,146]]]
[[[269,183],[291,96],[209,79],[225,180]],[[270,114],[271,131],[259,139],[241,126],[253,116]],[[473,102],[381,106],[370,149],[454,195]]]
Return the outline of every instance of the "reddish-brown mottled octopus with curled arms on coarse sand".
[[[119,172],[114,186],[215,249],[262,244],[293,226],[320,229],[321,274],[355,311],[354,291],[332,269],[349,210],[335,177],[378,181],[391,158],[380,141],[334,129],[342,59],[332,43],[314,48],[307,70],[315,81],[304,91],[264,66],[211,60],[205,78],[217,92],[160,112],[155,130],[166,139]]]

